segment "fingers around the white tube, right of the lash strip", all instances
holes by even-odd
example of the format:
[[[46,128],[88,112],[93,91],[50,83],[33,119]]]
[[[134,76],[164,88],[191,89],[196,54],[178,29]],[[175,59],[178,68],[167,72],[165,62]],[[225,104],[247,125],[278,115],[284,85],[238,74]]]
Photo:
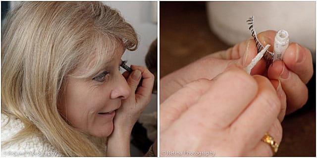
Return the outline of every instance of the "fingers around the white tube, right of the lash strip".
[[[274,31],[264,32],[261,36],[266,43],[273,43]],[[290,43],[283,60],[273,62],[267,70],[268,79],[276,79],[287,96],[287,111],[292,113],[305,105],[308,100],[306,83],[313,76],[313,59],[311,51],[298,43]]]

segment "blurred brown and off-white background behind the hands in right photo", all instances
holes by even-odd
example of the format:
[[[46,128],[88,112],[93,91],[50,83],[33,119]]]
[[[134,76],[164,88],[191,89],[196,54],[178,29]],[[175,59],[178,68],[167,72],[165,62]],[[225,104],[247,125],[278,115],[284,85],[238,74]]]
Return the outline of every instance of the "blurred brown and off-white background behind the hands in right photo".
[[[290,42],[308,47],[316,61],[316,2],[159,2],[160,78],[210,53],[251,37],[246,20],[255,16],[257,33],[285,29]],[[282,122],[275,157],[316,157],[316,64],[307,84],[309,100]]]

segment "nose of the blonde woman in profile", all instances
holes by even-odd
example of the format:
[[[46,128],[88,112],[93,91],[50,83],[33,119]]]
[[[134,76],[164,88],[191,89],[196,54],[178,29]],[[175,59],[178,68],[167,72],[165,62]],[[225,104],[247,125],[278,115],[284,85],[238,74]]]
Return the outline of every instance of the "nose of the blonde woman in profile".
[[[128,85],[128,82],[124,79],[124,77],[118,72],[118,78],[115,80],[114,88],[111,91],[110,98],[120,98],[120,99],[126,99],[129,97],[131,93],[130,86]]]

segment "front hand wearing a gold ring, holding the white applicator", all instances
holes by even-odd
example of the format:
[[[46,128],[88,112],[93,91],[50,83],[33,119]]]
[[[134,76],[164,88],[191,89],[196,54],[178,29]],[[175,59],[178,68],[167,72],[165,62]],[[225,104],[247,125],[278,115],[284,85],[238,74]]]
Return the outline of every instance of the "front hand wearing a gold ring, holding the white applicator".
[[[267,78],[235,66],[212,80],[186,84],[160,105],[160,156],[198,156],[186,151],[272,156],[261,138],[266,132],[277,143],[282,138],[278,117],[286,96],[276,88]]]

